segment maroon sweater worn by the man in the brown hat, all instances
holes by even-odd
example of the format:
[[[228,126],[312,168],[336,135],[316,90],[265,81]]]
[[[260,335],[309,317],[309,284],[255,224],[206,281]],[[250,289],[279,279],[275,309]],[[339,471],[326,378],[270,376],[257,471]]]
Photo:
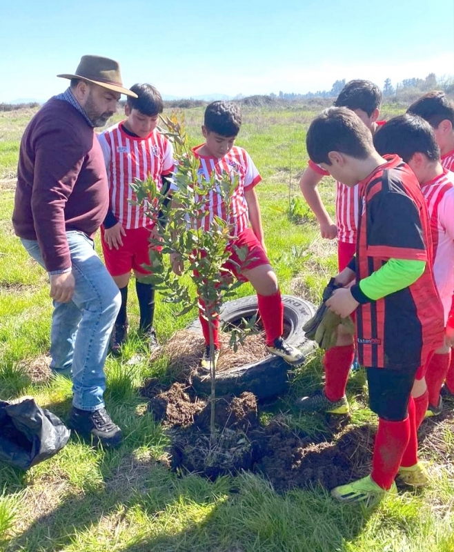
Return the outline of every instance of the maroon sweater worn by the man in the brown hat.
[[[37,239],[46,270],[70,268],[66,230],[92,236],[109,205],[106,166],[95,131],[67,101],[51,98],[21,140],[12,224]]]

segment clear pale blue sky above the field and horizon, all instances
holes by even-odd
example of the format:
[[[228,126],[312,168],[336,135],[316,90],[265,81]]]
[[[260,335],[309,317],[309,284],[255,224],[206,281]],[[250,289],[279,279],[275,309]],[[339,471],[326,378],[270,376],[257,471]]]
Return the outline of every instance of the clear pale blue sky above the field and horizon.
[[[0,102],[61,92],[84,54],[184,97],[454,75],[453,0],[2,1],[0,37]]]

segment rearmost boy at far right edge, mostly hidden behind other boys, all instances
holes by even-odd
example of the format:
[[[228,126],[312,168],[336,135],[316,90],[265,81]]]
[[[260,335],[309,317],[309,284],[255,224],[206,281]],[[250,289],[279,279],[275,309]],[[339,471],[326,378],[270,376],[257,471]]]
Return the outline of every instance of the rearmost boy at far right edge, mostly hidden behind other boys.
[[[454,172],[454,101],[442,90],[433,90],[412,103],[407,112],[428,121],[440,147],[442,166]],[[454,397],[454,351],[451,351],[451,364],[442,387],[442,395]],[[434,411],[431,410],[432,413]]]

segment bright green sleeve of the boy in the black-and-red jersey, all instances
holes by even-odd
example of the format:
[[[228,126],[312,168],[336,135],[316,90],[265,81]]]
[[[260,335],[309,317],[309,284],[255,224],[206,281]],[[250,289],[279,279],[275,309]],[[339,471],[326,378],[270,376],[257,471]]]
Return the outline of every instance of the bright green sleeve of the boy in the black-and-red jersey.
[[[359,289],[368,299],[376,301],[411,286],[422,276],[424,268],[426,268],[425,261],[389,259],[373,274],[362,279],[359,282]]]

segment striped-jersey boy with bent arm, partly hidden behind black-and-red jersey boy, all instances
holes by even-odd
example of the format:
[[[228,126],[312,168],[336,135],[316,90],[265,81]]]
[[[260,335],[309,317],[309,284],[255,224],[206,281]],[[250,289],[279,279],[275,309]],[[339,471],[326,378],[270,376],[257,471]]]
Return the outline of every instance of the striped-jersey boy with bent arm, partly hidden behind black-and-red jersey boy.
[[[336,107],[351,109],[374,133],[384,121],[377,121],[379,107],[382,103],[382,92],[370,81],[355,80],[346,83],[335,101]],[[358,188],[336,182],[336,224],[328,215],[320,197],[317,186],[328,171],[309,161],[299,186],[315,213],[320,225],[322,237],[337,237],[337,259],[339,271],[343,270],[355,253],[356,227],[358,217]],[[325,385],[322,391],[315,391],[308,397],[302,397],[299,408],[307,412],[324,411],[332,414],[348,413],[348,402],[345,395],[348,373],[355,357],[353,337],[339,326],[337,344],[324,354],[323,364]]]

